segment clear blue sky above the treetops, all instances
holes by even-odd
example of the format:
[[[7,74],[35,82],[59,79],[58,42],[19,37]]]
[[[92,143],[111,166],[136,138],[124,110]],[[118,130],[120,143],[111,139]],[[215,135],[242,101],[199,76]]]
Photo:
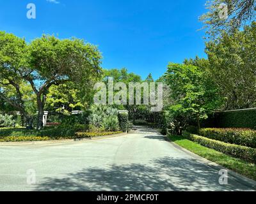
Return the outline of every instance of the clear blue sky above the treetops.
[[[197,31],[205,1],[8,0],[1,1],[0,30],[27,41],[43,33],[83,38],[99,46],[103,68],[158,78],[168,62],[205,57],[204,31]],[[26,17],[28,3],[35,3],[36,19]]]

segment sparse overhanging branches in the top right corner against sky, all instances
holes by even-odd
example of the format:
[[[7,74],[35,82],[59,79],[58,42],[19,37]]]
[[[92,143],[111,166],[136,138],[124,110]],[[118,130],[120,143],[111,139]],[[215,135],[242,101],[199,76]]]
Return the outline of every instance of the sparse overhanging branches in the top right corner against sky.
[[[227,5],[227,18],[220,16],[225,14],[223,4]],[[200,20],[211,38],[219,36],[221,31],[232,33],[256,19],[255,0],[210,0],[206,5],[209,11]]]

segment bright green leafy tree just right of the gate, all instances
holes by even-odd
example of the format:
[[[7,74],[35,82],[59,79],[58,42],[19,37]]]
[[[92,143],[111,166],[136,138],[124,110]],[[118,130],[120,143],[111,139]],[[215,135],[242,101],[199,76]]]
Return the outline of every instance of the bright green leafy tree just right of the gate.
[[[218,89],[202,68],[170,63],[165,78],[174,101],[169,108],[172,125],[179,134],[189,120],[195,120],[200,129],[200,120],[207,119],[221,105]]]

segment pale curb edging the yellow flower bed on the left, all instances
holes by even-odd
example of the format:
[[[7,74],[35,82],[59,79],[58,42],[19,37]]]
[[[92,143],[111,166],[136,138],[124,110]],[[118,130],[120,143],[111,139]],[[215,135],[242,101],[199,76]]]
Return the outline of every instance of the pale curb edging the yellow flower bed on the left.
[[[47,140],[47,141],[32,141],[32,142],[0,142],[0,146],[12,146],[12,145],[44,145],[44,144],[58,144],[58,143],[69,143],[69,142],[88,142],[92,140],[102,140],[106,138],[115,138],[117,136],[124,136],[127,133],[118,133],[106,136],[95,136],[90,138],[75,138],[67,140]]]

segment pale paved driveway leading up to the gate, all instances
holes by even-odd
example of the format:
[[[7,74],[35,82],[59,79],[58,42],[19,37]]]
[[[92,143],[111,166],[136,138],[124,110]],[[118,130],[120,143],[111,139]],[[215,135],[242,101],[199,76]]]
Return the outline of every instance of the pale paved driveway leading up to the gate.
[[[0,145],[0,155],[1,191],[255,190],[255,183],[232,175],[228,185],[221,186],[218,166],[206,164],[156,133]],[[35,178],[36,184],[31,185]]]

